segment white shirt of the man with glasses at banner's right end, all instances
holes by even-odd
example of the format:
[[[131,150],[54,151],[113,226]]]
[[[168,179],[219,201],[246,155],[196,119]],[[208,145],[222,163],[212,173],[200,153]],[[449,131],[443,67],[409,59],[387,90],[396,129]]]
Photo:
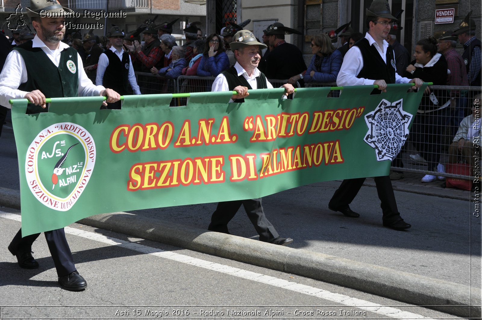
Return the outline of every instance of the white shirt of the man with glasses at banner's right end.
[[[383,40],[383,47],[380,48],[378,43],[373,39],[373,37],[367,32],[365,39],[368,40],[371,46],[375,46],[376,50],[382,57],[383,61],[387,63],[387,49],[388,42]],[[395,62],[395,53],[393,53],[393,61]],[[388,62],[390,63],[390,62]],[[396,62],[395,62],[396,65]],[[340,72],[336,78],[336,85],[338,86],[361,86],[361,85],[373,85],[376,80],[380,79],[365,79],[357,78],[357,75],[362,71],[363,68],[363,57],[360,48],[357,46],[352,46],[348,50],[347,54],[343,58],[343,63],[341,65]],[[403,78],[398,73],[395,72],[395,83],[409,83],[412,79]]]

